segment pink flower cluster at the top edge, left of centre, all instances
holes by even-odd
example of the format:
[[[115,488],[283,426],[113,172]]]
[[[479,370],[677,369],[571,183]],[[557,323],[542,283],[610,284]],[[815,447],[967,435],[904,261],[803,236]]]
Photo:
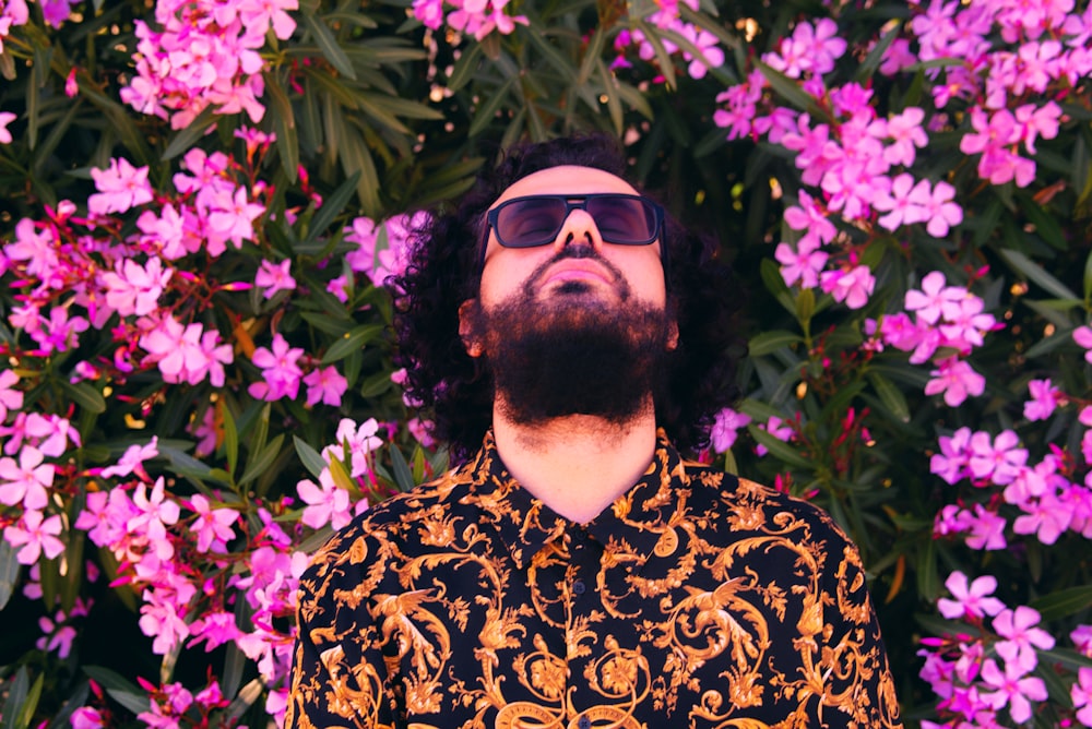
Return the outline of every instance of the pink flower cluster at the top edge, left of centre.
[[[136,21],[135,73],[121,100],[141,113],[170,119],[182,129],[206,108],[246,112],[252,122],[265,113],[261,49],[272,32],[285,40],[296,29],[288,11],[297,0],[158,0],[158,29]]]

